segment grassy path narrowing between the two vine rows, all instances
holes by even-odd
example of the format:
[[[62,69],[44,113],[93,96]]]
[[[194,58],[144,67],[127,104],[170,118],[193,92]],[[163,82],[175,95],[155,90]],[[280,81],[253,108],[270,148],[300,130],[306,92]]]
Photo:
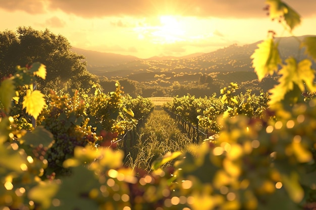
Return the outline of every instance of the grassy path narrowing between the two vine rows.
[[[150,170],[151,163],[168,152],[182,151],[191,139],[182,133],[174,119],[155,107],[137,136],[137,143],[127,150],[126,165]],[[166,165],[168,166],[168,165]]]

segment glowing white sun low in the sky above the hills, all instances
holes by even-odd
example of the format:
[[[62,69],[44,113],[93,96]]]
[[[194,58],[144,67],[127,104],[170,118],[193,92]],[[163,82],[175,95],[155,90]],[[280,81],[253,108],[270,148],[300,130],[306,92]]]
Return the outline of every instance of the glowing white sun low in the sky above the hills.
[[[152,32],[157,42],[174,43],[184,39],[184,24],[180,21],[180,17],[160,16],[159,20],[160,25]]]

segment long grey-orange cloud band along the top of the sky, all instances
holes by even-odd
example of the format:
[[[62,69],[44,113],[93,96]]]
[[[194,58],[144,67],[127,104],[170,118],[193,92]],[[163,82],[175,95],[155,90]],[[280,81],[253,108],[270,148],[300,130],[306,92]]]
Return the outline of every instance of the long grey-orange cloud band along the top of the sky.
[[[303,17],[316,15],[315,0],[284,0]],[[182,15],[219,18],[264,18],[265,1],[257,0],[0,0],[0,8],[30,14],[62,10],[84,18]]]

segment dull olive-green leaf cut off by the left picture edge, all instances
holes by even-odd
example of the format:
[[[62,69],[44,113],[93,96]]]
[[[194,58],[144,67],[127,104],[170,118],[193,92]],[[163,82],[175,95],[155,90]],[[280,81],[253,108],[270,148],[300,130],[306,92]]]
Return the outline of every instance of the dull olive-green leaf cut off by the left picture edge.
[[[16,96],[15,85],[12,79],[4,80],[0,85],[0,102],[5,108],[5,111],[11,109],[12,98]]]

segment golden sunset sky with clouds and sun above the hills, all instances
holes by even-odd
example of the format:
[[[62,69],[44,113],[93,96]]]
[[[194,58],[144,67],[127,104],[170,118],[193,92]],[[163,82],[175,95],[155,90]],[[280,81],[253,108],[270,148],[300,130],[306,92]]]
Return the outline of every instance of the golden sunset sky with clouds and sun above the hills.
[[[301,16],[292,34],[264,11],[265,0],[0,0],[0,31],[46,28],[73,47],[184,56],[276,36],[316,35],[316,0],[284,0]]]

